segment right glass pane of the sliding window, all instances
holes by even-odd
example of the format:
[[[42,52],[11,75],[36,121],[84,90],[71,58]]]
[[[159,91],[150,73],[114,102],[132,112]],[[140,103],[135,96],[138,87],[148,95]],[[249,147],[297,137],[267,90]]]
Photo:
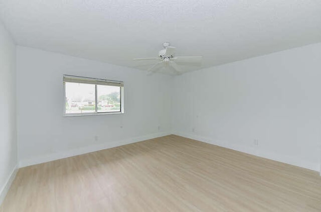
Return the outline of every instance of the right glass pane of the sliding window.
[[[97,85],[98,112],[120,112],[120,87]]]

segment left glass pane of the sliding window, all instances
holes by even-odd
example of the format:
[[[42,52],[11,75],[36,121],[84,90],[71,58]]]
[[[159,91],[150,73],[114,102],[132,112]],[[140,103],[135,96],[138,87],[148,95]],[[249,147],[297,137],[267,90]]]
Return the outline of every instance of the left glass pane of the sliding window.
[[[65,83],[66,113],[95,112],[95,85],[82,83]]]

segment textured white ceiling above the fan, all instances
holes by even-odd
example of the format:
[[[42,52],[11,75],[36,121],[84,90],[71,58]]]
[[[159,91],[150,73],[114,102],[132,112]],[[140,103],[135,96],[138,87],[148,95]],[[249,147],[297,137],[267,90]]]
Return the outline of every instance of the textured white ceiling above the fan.
[[[0,17],[19,45],[139,69],[166,41],[202,67],[321,42],[320,0],[0,0]]]

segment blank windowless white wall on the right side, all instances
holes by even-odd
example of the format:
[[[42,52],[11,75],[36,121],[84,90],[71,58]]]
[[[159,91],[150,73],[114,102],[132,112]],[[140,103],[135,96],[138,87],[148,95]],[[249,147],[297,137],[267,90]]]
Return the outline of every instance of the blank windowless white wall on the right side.
[[[176,134],[319,170],[320,43],[190,72],[174,90]]]

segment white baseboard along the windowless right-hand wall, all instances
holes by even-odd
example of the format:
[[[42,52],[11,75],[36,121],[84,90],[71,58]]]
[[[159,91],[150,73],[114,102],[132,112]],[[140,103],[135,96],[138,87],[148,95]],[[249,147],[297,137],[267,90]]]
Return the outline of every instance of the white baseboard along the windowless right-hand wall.
[[[203,136],[199,136],[196,134],[190,134],[190,133],[185,133],[185,132],[173,132],[172,134],[186,137],[186,138],[190,138],[190,139],[194,139],[194,140],[199,140],[199,141],[209,143],[209,144],[214,144],[214,145],[225,147],[228,149],[233,149],[236,151],[252,154],[255,156],[264,157],[266,159],[275,160],[275,161],[287,163],[290,165],[295,165],[295,166],[299,166],[302,168],[311,169],[311,170],[318,171],[318,172],[320,171],[320,164],[318,164],[318,163],[314,164],[314,163],[311,163],[308,161],[298,160],[297,158],[290,157],[290,156],[278,155],[278,154],[275,154],[272,152],[259,151],[259,150],[256,150],[255,148],[249,148],[247,146],[242,146],[242,145],[233,144],[233,143],[229,143],[229,142],[214,140],[212,138],[203,137]],[[321,171],[320,171],[320,175],[321,175]]]

